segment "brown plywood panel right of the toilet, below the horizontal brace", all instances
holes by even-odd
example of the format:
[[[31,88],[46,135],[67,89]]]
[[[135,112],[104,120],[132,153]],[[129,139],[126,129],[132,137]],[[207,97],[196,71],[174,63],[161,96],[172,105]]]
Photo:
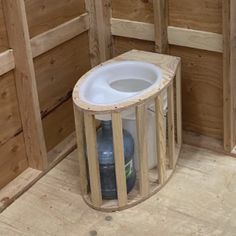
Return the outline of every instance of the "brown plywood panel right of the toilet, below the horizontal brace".
[[[222,54],[177,46],[170,54],[182,58],[184,129],[222,139]]]

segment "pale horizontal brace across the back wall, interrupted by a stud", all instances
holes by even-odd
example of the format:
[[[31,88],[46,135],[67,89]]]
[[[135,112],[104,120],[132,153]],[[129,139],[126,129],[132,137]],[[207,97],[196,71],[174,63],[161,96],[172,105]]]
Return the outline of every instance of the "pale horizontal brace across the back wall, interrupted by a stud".
[[[154,41],[154,24],[111,19],[112,35]],[[168,42],[171,45],[203,49],[213,52],[223,52],[223,37],[221,34],[168,26]]]

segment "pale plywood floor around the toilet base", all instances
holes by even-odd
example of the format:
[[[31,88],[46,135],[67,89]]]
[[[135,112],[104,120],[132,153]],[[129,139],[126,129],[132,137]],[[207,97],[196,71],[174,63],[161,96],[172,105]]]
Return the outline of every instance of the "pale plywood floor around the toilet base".
[[[0,235],[235,236],[236,159],[184,146],[159,194],[107,214],[81,199],[74,152],[0,215]]]

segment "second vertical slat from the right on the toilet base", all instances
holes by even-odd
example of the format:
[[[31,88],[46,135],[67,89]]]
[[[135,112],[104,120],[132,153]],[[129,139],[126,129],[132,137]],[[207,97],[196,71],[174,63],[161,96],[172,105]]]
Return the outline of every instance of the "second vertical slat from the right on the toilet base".
[[[168,156],[169,165],[175,167],[175,120],[174,120],[174,88],[173,83],[168,87]]]

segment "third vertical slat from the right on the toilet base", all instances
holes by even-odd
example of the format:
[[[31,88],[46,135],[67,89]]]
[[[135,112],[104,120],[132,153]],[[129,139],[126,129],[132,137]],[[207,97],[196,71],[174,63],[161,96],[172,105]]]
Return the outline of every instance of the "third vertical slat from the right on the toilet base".
[[[163,112],[163,96],[158,95],[155,99],[156,111],[156,145],[157,145],[157,169],[159,184],[166,181],[166,136]]]

